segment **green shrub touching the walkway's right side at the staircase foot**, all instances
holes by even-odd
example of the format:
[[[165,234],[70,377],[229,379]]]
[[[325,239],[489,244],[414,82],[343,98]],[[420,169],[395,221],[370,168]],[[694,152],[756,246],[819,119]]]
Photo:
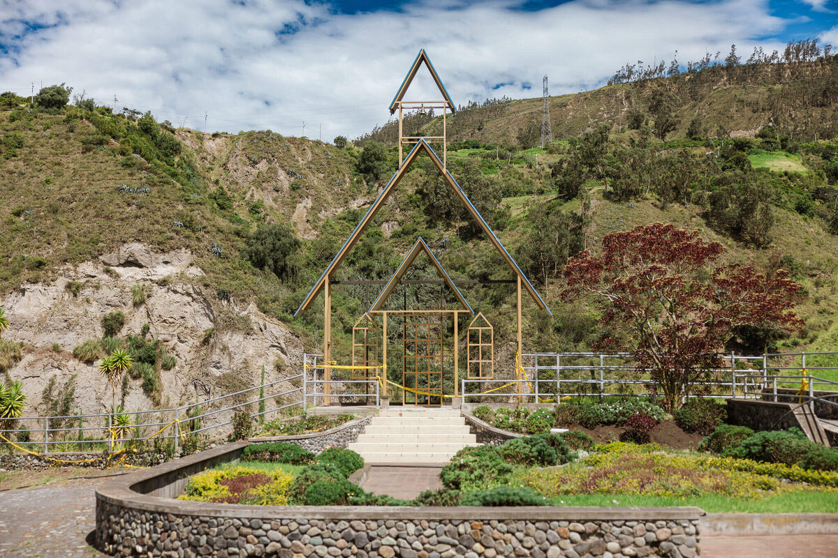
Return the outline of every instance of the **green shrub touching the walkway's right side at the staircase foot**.
[[[442,468],[439,478],[449,489],[468,491],[489,488],[511,472],[512,465],[500,457],[497,448],[479,446],[458,451]]]

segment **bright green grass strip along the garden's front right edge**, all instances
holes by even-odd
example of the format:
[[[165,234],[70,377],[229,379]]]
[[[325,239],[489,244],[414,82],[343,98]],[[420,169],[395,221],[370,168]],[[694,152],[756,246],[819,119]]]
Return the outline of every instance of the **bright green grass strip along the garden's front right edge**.
[[[567,494],[551,499],[557,506],[696,506],[708,513],[763,514],[838,513],[838,491],[816,490],[777,494],[763,499],[726,498],[716,494],[693,498],[665,498],[639,494]]]

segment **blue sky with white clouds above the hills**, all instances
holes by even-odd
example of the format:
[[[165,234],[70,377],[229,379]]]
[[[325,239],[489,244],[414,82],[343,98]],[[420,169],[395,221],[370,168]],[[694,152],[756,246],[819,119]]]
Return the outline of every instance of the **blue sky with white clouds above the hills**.
[[[807,37],[838,45],[838,0],[0,0],[0,90],[65,82],[175,125],[330,141],[385,123],[421,48],[464,104]]]

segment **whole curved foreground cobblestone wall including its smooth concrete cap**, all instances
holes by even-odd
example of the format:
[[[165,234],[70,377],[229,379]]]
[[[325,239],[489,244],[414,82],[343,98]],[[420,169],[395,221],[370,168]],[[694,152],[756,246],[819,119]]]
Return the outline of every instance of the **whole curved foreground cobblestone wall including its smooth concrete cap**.
[[[173,499],[228,444],[96,489],[96,546],[122,556],[579,558],[698,554],[697,508],[248,506]]]

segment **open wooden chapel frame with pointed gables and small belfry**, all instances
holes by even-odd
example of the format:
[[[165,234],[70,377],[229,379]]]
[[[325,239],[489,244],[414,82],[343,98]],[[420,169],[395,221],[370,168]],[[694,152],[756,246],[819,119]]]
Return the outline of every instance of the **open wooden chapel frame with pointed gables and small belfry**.
[[[407,90],[410,88],[411,82],[416,76],[416,72],[424,64],[434,83],[437,85],[439,93],[442,95],[441,100],[405,100]],[[385,378],[394,375],[387,375],[387,349],[388,337],[387,326],[388,322],[394,319],[401,319],[401,385],[406,389],[402,389],[401,403],[403,405],[441,405],[443,396],[454,397],[459,393],[459,378],[463,377],[463,371],[460,370],[460,356],[459,347],[463,344],[466,348],[465,355],[465,377],[469,379],[491,379],[494,376],[494,343],[495,335],[494,328],[489,324],[489,320],[478,311],[475,315],[473,307],[468,304],[463,297],[462,292],[458,289],[457,284],[479,284],[484,283],[512,283],[516,286],[516,341],[517,354],[523,352],[523,341],[521,336],[522,317],[522,292],[526,291],[530,298],[535,302],[541,310],[546,311],[552,315],[551,310],[547,307],[541,295],[535,290],[530,283],[530,279],[526,277],[523,271],[515,263],[509,252],[506,251],[504,245],[499,238],[494,234],[494,231],[489,228],[480,213],[469,201],[468,196],[463,192],[457,180],[452,176],[451,172],[447,170],[447,113],[455,112],[455,106],[451,97],[448,95],[445,85],[439,79],[436,69],[434,69],[431,60],[427,57],[424,49],[419,51],[416,59],[411,65],[411,69],[407,72],[405,79],[401,82],[396,96],[393,98],[390,105],[391,114],[398,112],[398,127],[399,127],[399,166],[396,173],[391,177],[390,182],[380,192],[375,202],[372,203],[367,210],[364,218],[354,228],[354,231],[349,235],[349,238],[344,242],[343,247],[340,248],[337,255],[323,274],[309,291],[303,303],[297,308],[294,316],[301,315],[308,310],[314,303],[314,299],[318,294],[323,292],[324,311],[323,311],[323,379],[326,383],[323,384],[323,393],[325,395],[325,404],[330,403],[331,384],[331,368],[329,363],[332,362],[332,292],[334,285],[341,283],[352,284],[380,284],[380,281],[353,281],[342,282],[334,279],[333,274],[340,264],[344,261],[347,253],[353,248],[358,241],[361,234],[373,222],[375,215],[380,208],[384,206],[391,193],[396,190],[401,179],[410,170],[411,165],[416,161],[418,156],[423,153],[427,155],[437,170],[442,173],[442,177],[449,187],[452,188],[454,194],[463,202],[468,213],[478,224],[478,227],[483,231],[489,242],[498,251],[501,258],[515,274],[515,279],[504,280],[489,280],[489,279],[451,279],[447,274],[442,264],[433,255],[431,248],[422,238],[416,238],[411,250],[406,254],[405,259],[401,265],[394,271],[391,279],[388,280],[380,294],[375,298],[375,301],[370,305],[364,315],[361,315],[359,320],[354,325],[353,339],[352,339],[352,366],[358,366],[357,369],[352,369],[352,377],[355,379],[365,379],[368,377],[375,377],[373,370],[375,366],[383,369]],[[442,136],[405,136],[402,129],[402,116],[404,112],[416,109],[434,109],[442,110]],[[436,143],[440,146],[442,151],[442,158],[437,155],[431,144]],[[404,156],[405,146],[409,147],[407,155]],[[458,305],[457,309],[449,309],[443,307],[442,299],[440,305],[436,309],[423,308],[416,310],[408,310],[402,308],[401,310],[385,310],[385,302],[390,298],[393,290],[401,284],[404,280],[408,269],[416,261],[416,258],[424,253],[427,256],[428,263],[437,271],[442,281],[412,281],[412,283],[441,283],[447,286],[448,290],[453,294]],[[441,295],[442,296],[442,295]],[[465,331],[465,342],[461,343],[459,338],[459,318],[466,315],[470,318],[470,322]],[[376,320],[380,318],[379,322]],[[446,360],[443,354],[443,346],[445,340],[446,327],[443,320],[453,319],[453,355]],[[451,362],[453,360],[453,362]],[[363,366],[363,368],[362,368]],[[451,375],[453,378],[443,378],[443,375]],[[520,369],[519,369],[520,374]],[[443,379],[450,383],[453,379],[453,394],[443,393],[442,385]],[[518,380],[521,378],[518,377]],[[384,395],[387,394],[387,383],[383,384]],[[520,393],[522,384],[520,381],[517,384],[517,390]]]

